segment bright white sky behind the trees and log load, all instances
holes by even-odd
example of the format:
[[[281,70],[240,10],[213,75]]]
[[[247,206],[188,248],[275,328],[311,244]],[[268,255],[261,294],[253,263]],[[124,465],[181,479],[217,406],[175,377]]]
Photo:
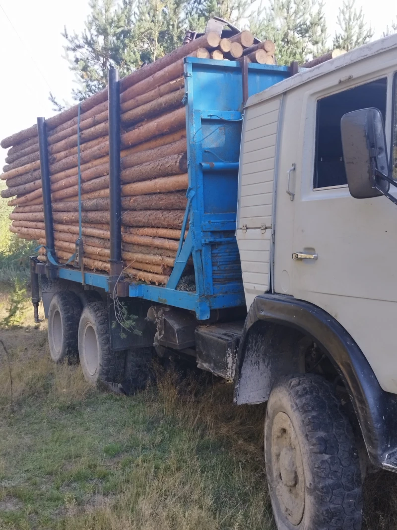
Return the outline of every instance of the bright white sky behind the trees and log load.
[[[342,0],[326,0],[330,37],[336,30]],[[356,0],[375,30],[374,39],[397,15],[391,0]],[[0,139],[30,127],[38,116],[55,112],[48,101],[51,91],[57,99],[71,102],[75,84],[73,72],[62,57],[65,25],[69,32],[81,32],[89,13],[88,0],[0,0]],[[0,148],[0,165],[6,151]]]

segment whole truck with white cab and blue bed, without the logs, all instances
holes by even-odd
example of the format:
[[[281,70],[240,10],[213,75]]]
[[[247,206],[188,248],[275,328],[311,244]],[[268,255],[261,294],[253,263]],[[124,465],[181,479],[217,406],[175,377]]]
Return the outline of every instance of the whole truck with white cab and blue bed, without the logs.
[[[313,68],[186,58],[189,185],[167,285],[31,259],[51,356],[78,352],[87,380],[139,388],[153,356],[185,356],[236,405],[267,402],[279,530],[359,530],[366,473],[397,471],[396,52],[393,35]]]

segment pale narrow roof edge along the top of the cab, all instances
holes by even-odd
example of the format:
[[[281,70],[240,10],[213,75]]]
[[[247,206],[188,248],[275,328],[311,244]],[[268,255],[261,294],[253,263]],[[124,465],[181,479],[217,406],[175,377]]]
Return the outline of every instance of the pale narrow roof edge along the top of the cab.
[[[381,54],[382,52],[393,48],[397,48],[397,33],[374,42],[369,42],[368,44],[355,48],[354,50],[348,51],[346,54],[325,61],[325,63],[313,66],[312,68],[301,68],[300,72],[294,76],[288,77],[287,79],[270,86],[263,92],[250,96],[247,100],[246,107],[251,107],[262,101],[274,98],[274,96],[295,89],[297,86],[312,81],[317,77],[330,72],[335,72],[335,70],[339,68],[357,63],[359,60],[373,57],[374,55]]]

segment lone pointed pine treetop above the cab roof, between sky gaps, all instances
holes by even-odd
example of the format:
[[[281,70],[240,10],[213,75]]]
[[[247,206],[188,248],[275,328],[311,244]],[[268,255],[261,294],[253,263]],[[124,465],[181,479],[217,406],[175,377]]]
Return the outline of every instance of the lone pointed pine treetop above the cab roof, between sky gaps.
[[[367,25],[363,13],[363,8],[357,11],[356,0],[344,0],[339,8],[338,26],[339,32],[333,38],[333,47],[342,50],[352,50],[369,42],[374,36],[371,25]]]

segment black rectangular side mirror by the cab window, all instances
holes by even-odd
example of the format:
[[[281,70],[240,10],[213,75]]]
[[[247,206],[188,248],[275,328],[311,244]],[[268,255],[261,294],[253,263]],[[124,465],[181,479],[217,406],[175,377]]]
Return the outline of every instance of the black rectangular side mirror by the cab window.
[[[394,182],[389,176],[385,128],[380,110],[348,112],[340,120],[340,129],[350,195],[355,199],[380,195],[391,198],[388,191],[390,183]]]

